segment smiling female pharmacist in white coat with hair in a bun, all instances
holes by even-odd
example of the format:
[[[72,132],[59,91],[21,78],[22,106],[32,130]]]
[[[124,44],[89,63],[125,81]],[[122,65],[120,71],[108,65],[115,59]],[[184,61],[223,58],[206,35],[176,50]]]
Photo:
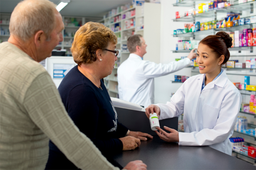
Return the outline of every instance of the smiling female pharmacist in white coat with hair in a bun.
[[[150,105],[146,116],[156,113],[160,119],[178,117],[184,113],[184,133],[164,127],[155,131],[164,141],[179,145],[209,145],[231,155],[229,137],[240,110],[242,97],[221,68],[229,59],[232,38],[225,32],[207,36],[198,46],[196,61],[201,74],[192,76],[167,104]]]

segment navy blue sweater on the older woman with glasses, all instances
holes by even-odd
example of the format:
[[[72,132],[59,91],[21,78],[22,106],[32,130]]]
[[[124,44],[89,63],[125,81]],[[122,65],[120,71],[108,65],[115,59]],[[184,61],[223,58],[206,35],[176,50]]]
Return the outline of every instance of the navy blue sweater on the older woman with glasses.
[[[111,158],[113,153],[122,151],[123,144],[118,138],[124,137],[128,128],[118,123],[117,113],[102,80],[101,88],[103,90],[85,77],[76,65],[63,78],[58,90],[75,125],[92,140],[106,158]],[[49,142],[49,147],[46,169],[58,166],[58,162],[62,162],[61,166],[67,168],[65,164],[71,162],[52,141]]]

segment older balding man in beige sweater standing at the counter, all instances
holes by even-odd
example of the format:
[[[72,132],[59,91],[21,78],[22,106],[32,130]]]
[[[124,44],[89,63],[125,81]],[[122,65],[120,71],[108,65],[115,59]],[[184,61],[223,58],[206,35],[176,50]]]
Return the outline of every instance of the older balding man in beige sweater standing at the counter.
[[[0,44],[0,169],[45,168],[49,138],[81,169],[118,169],[69,118],[50,75],[38,63],[63,41],[64,24],[48,0],[25,0]],[[142,161],[126,169],[146,169]]]

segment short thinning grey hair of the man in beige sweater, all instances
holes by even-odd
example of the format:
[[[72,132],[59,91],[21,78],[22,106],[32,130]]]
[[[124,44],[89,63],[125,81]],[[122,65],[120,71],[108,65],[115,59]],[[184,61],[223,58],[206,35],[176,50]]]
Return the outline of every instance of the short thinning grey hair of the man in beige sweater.
[[[55,28],[56,5],[48,0],[24,0],[14,8],[10,19],[10,34],[23,41],[42,30],[47,40]]]

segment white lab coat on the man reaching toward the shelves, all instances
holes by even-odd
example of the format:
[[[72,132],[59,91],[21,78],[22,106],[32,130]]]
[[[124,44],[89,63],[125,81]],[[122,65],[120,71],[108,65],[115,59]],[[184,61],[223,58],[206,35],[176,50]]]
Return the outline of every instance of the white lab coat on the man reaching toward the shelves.
[[[130,54],[117,69],[119,98],[145,108],[154,103],[154,77],[160,77],[190,66],[185,58],[169,64],[156,64]]]

